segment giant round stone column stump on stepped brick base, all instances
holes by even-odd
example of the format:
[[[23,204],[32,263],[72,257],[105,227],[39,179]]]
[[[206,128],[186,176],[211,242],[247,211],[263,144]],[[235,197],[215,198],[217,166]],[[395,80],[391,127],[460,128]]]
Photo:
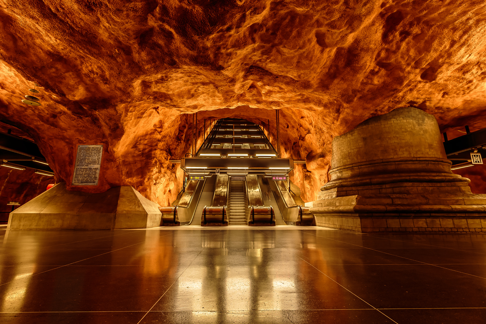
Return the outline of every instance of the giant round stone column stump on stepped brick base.
[[[399,108],[332,141],[318,226],[357,232],[486,232],[486,194],[451,172],[434,116]]]

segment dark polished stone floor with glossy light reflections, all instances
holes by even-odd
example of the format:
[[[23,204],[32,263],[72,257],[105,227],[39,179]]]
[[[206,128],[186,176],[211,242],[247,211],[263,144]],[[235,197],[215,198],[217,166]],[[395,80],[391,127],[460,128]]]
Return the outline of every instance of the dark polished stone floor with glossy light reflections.
[[[0,230],[0,323],[486,323],[486,235]]]

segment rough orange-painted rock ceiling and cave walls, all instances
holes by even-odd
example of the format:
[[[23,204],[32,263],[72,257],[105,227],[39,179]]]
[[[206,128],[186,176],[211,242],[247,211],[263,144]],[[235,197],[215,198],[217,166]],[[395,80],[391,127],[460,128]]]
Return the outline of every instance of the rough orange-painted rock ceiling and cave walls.
[[[169,204],[182,171],[168,160],[189,152],[195,112],[275,133],[280,109],[305,201],[333,136],[365,119],[412,105],[441,131],[486,127],[483,0],[5,0],[0,24],[1,121],[68,184],[75,146],[104,144],[100,185],[74,190],[132,185]],[[34,83],[39,107],[20,102]]]

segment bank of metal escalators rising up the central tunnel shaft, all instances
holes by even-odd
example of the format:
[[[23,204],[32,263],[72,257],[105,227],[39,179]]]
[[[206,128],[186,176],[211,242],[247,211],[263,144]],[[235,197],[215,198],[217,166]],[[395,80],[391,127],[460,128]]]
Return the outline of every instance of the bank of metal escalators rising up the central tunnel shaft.
[[[286,188],[293,160],[279,158],[263,129],[247,120],[218,120],[196,155],[181,159],[181,169],[187,187],[177,205],[159,208],[161,226],[313,222]]]

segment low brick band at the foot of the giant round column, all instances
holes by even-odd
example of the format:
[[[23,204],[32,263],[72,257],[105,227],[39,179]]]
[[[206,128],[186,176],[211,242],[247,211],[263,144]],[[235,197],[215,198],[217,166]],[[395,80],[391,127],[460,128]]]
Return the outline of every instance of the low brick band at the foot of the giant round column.
[[[316,225],[359,233],[372,232],[485,232],[486,217],[361,217],[315,215]]]

